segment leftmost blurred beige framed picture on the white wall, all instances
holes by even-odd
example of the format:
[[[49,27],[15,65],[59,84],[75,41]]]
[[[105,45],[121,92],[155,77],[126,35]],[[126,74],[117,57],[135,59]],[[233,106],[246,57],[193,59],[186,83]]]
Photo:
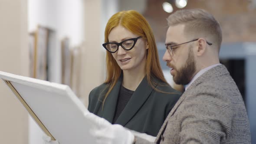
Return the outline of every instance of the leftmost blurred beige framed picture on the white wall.
[[[38,26],[36,31],[36,46],[35,46],[35,78],[47,80],[47,43],[48,29],[43,26]]]

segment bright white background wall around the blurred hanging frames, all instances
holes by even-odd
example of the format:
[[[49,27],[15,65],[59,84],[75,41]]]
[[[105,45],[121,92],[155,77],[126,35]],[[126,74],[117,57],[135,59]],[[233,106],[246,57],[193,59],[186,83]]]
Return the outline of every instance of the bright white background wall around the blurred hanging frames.
[[[28,32],[37,25],[56,31],[56,56],[53,61],[55,76],[52,82],[61,82],[61,40],[70,39],[70,46],[84,41],[84,0],[28,0]],[[29,118],[29,144],[44,144],[43,131]]]

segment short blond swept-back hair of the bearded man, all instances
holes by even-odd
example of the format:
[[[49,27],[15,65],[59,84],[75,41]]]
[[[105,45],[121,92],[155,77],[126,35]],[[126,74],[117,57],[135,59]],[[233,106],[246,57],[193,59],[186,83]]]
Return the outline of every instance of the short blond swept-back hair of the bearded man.
[[[202,9],[177,10],[167,18],[168,26],[184,24],[184,33],[194,39],[208,37],[213,46],[220,50],[222,30],[212,14]]]

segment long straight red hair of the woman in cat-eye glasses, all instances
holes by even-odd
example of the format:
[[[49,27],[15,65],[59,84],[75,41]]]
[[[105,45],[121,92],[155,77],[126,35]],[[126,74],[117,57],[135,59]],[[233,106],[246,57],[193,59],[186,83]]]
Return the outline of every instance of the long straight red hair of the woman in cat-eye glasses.
[[[164,74],[161,70],[161,66],[158,58],[158,50],[155,43],[153,31],[149,26],[148,22],[140,13],[135,10],[128,11],[120,11],[115,13],[109,20],[105,28],[105,43],[108,43],[108,35],[113,28],[121,25],[126,29],[130,30],[132,33],[135,33],[138,36],[142,36],[144,39],[147,39],[148,42],[148,52],[146,58],[146,77],[149,85],[152,88],[159,91],[155,88],[155,82],[153,81],[153,77],[160,79],[162,82],[166,83],[167,86],[169,84],[164,79]],[[122,70],[119,65],[113,58],[110,52],[106,53],[106,66],[107,66],[107,76],[104,83],[108,84],[108,91],[105,94],[104,101],[109,95],[109,93],[114,88],[116,82],[118,81]],[[103,108],[103,106],[102,106]]]

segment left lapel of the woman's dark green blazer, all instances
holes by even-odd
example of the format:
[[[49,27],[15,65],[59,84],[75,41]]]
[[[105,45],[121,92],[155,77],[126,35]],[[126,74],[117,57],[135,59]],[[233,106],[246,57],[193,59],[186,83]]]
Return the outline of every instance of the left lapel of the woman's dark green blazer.
[[[105,118],[110,123],[113,123],[113,118],[115,115],[115,108],[117,105],[118,95],[120,86],[122,84],[122,76],[118,79],[117,83],[115,84],[112,91],[109,93],[108,97],[105,100],[103,111],[102,111],[102,118]],[[102,107],[101,107],[102,108]]]

